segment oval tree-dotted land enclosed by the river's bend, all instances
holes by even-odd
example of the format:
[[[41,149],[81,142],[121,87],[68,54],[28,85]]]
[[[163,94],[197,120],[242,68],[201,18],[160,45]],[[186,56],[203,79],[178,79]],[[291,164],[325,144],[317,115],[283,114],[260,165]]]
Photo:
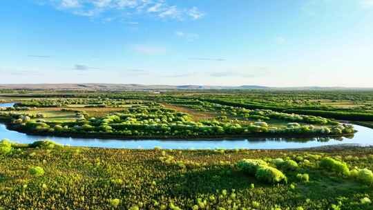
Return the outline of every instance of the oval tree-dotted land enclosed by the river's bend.
[[[338,137],[354,127],[312,115],[249,109],[180,95],[24,97],[2,108],[8,128],[34,135],[119,139]]]

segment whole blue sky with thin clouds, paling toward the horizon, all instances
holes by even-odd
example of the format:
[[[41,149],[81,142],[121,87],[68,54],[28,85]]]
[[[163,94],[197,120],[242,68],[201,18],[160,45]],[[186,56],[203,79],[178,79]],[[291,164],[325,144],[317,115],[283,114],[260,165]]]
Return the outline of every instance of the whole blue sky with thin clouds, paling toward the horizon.
[[[373,87],[373,0],[3,0],[6,83]]]

